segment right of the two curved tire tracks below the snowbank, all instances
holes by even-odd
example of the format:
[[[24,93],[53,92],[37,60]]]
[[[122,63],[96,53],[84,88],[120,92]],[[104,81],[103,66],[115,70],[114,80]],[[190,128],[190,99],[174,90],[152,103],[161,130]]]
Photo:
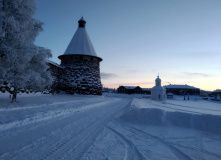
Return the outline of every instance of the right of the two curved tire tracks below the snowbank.
[[[126,128],[126,127],[124,127],[124,128]],[[139,130],[139,129],[134,128],[134,127],[131,127],[131,126],[130,126],[130,128],[126,128],[126,129],[127,129],[127,130],[129,129],[129,131],[130,131],[130,129],[131,129],[131,131],[135,131],[135,133],[138,132],[138,133],[142,134],[143,136],[146,136],[146,137],[148,137],[148,138],[151,137],[151,138],[157,140],[157,141],[160,142],[161,144],[163,144],[163,145],[167,146],[168,148],[170,148],[170,150],[171,150],[171,151],[177,156],[177,158],[179,158],[180,160],[193,160],[190,156],[188,156],[187,154],[185,154],[184,152],[182,152],[181,150],[179,150],[177,147],[173,146],[172,144],[170,144],[170,143],[164,141],[164,140],[161,139],[160,137],[157,137],[157,136],[155,136],[155,135],[152,135],[152,134],[150,134],[150,133],[144,132],[144,131],[142,131],[142,130]]]

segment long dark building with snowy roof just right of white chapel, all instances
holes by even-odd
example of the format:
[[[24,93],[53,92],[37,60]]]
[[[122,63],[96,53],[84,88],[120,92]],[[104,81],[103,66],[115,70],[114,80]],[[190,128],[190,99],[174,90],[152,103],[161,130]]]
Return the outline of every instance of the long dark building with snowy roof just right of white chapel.
[[[173,93],[175,95],[200,95],[200,89],[189,85],[176,85],[170,84],[164,86],[167,93]]]

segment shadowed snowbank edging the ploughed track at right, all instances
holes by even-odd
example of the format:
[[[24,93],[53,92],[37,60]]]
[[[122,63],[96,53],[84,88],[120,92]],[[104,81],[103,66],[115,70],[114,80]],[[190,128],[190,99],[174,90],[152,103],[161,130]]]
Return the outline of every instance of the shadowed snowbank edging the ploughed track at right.
[[[121,119],[136,124],[185,127],[221,134],[220,115],[132,106]]]

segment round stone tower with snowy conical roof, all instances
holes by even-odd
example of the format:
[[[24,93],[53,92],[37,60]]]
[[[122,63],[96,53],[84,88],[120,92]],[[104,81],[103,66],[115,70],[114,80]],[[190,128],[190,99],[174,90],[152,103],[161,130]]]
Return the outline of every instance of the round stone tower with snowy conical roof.
[[[60,90],[78,94],[102,94],[100,62],[86,31],[83,17],[65,53],[58,58],[63,68]]]

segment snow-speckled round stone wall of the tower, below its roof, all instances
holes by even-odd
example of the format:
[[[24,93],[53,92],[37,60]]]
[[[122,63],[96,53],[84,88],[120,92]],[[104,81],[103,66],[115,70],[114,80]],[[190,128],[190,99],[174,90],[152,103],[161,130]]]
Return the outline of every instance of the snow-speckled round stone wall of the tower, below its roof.
[[[63,63],[59,88],[68,93],[102,94],[99,61],[75,60]]]

